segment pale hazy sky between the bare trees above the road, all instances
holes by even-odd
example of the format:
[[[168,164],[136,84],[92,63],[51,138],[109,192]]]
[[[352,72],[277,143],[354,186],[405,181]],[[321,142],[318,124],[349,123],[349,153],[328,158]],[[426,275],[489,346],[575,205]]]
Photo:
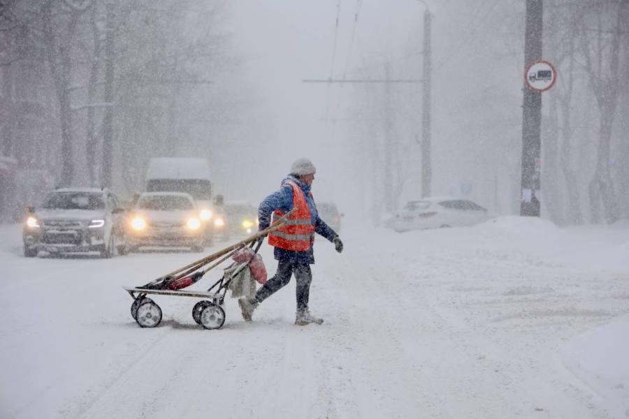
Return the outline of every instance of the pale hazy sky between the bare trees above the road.
[[[477,179],[475,170],[479,164],[466,151],[470,142],[482,139],[466,132],[465,128],[461,131],[460,124],[456,123],[470,118],[461,111],[465,102],[474,98],[478,89],[491,92],[493,85],[501,85],[501,89],[506,86],[511,93],[508,97],[501,94],[498,100],[509,101],[509,109],[521,112],[518,46],[514,45],[514,53],[509,57],[511,51],[496,54],[491,45],[495,38],[500,40],[502,36],[500,25],[512,24],[497,18],[500,8],[496,5],[502,6],[503,12],[505,8],[512,10],[516,22],[519,22],[520,6],[493,0],[427,3],[433,15],[433,165],[437,175],[433,191],[435,194],[458,193],[461,183],[486,181]],[[277,154],[260,176],[266,177],[271,186],[277,186],[294,158],[308,156],[319,168],[314,189],[317,193],[340,201],[355,200],[352,193],[359,189],[356,182],[363,175],[354,171],[360,153],[356,150],[356,141],[350,141],[354,124],[345,119],[352,117],[356,110],[356,98],[361,94],[357,89],[365,87],[308,84],[302,80],[340,79],[344,74],[347,78],[373,78],[375,75],[384,78],[385,62],[391,63],[393,78],[421,78],[426,6],[417,0],[236,0],[229,5],[232,15],[228,27],[236,52],[244,59],[248,86],[258,101],[253,112],[261,128],[255,135],[259,136],[261,144]],[[359,15],[355,20],[357,5]],[[494,55],[496,62],[491,62]],[[497,66],[505,66],[505,61],[510,69],[493,71]],[[361,72],[362,68],[370,73]],[[383,87],[375,89],[384,91]],[[421,97],[419,84],[393,89],[413,89],[411,94]],[[478,112],[477,107],[485,105],[473,103],[471,106]],[[394,113],[397,118],[419,117],[421,105],[412,108],[396,103]],[[473,112],[471,115],[473,119]],[[342,121],[321,120],[325,118]],[[509,130],[512,132],[505,135],[512,135],[511,140],[517,139],[519,128],[509,127]],[[469,137],[461,138],[462,132]],[[417,133],[421,133],[419,124]],[[419,196],[421,154],[418,145],[412,141],[409,144],[412,182],[405,184],[403,199]],[[493,182],[497,175],[490,176],[486,164],[484,166],[481,177],[491,178]]]

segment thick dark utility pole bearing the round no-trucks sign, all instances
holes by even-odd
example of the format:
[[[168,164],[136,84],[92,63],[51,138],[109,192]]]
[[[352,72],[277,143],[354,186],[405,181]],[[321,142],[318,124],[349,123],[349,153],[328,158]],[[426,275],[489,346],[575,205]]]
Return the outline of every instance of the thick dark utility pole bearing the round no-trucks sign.
[[[524,38],[524,66],[542,59],[542,0],[526,0],[526,29]],[[522,177],[520,215],[540,216],[540,150],[542,143],[542,93],[526,85],[523,89]]]

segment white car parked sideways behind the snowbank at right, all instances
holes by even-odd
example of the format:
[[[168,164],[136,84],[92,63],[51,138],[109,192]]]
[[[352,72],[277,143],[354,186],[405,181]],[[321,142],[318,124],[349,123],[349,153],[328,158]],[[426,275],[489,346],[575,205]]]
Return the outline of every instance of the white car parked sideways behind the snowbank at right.
[[[392,214],[385,226],[398,233],[424,228],[471,226],[492,218],[489,212],[471,200],[426,198],[410,200],[400,212]]]

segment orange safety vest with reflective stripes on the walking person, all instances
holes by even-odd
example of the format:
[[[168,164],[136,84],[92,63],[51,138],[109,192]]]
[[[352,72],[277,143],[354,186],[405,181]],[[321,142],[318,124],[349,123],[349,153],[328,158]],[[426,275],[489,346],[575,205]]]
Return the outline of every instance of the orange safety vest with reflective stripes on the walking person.
[[[291,251],[307,251],[310,243],[315,240],[315,226],[312,225],[310,208],[306,202],[305,195],[295,182],[286,182],[293,188],[293,207],[296,210],[286,219],[284,226],[268,235],[268,244],[273,247]],[[312,193],[310,193],[312,197]],[[284,216],[280,210],[273,212],[273,221]]]

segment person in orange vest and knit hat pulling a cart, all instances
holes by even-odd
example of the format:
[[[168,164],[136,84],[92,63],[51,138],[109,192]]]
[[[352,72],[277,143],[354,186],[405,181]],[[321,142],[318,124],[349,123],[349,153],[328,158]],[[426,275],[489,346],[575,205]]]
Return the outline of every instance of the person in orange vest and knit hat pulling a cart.
[[[297,281],[297,313],[295,324],[304,326],[310,323],[323,323],[321,318],[310,314],[308,296],[312,272],[310,265],[315,263],[312,244],[315,233],[319,233],[334,243],[338,253],[343,251],[343,243],[323,220],[319,218],[315,200],[310,187],[315,179],[315,165],[308,159],[297,159],[291,166],[290,174],[282,181],[279,191],[267,196],[258,208],[259,230],[270,226],[273,219],[295,208],[287,218],[287,223],[268,235],[268,243],[275,247],[274,255],[278,260],[275,277],[269,279],[257,292],[254,298],[238,300],[240,311],[245,321],[252,320],[254,309],[273,293],[289,283],[292,274]]]

